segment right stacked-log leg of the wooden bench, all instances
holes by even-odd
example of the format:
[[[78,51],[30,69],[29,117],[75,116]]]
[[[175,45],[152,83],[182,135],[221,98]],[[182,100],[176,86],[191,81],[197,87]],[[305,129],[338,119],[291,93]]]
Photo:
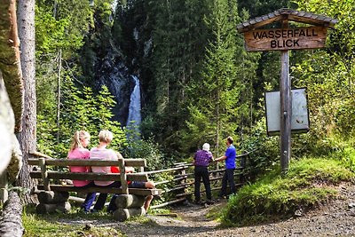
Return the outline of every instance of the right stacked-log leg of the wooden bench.
[[[146,209],[143,207],[144,202],[144,196],[132,194],[118,195],[115,200],[115,205],[118,209],[114,211],[114,219],[125,221],[130,217],[146,215]]]

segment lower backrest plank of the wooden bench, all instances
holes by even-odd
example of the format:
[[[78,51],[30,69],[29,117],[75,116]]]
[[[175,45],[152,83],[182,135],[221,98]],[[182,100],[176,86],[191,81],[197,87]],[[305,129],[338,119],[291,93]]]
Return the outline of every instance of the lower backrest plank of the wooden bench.
[[[43,178],[40,171],[30,172],[31,178]],[[47,171],[47,177],[52,179],[72,179],[72,180],[97,180],[97,181],[122,181],[120,174],[106,173],[71,173],[60,171]],[[130,181],[146,182],[148,176],[145,173],[129,173],[126,175]]]

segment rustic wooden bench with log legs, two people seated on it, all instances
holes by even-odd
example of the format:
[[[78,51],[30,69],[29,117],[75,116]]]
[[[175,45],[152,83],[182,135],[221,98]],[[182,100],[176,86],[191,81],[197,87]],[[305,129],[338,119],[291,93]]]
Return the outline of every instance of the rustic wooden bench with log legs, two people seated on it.
[[[29,165],[38,166],[39,170],[30,172],[31,178],[42,182],[37,186],[39,204],[36,207],[38,213],[52,213],[57,211],[67,212],[70,209],[68,192],[77,193],[105,193],[120,194],[115,201],[117,210],[114,211],[114,218],[124,221],[129,217],[145,215],[143,208],[147,195],[161,195],[161,189],[130,188],[128,181],[148,181],[148,175],[144,172],[146,167],[145,159],[119,159],[118,161],[97,161],[97,160],[67,160],[67,159],[29,159]],[[118,166],[121,173],[72,173],[68,166]],[[138,172],[125,173],[125,167],[134,167]],[[64,169],[63,169],[64,167]],[[60,168],[60,170],[59,170]],[[121,181],[121,187],[77,187],[60,183],[63,179],[71,180],[98,180],[98,181]]]

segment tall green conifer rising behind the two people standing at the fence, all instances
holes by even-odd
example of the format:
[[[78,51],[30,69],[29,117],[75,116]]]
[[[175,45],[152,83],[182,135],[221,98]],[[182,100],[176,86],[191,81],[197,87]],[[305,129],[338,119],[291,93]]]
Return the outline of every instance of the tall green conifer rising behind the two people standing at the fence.
[[[210,14],[205,22],[211,36],[206,58],[200,77],[190,83],[188,91],[189,117],[185,120],[186,131],[183,134],[187,151],[209,142],[222,152],[224,147],[219,147],[219,144],[239,129],[245,105],[239,104],[242,81],[248,73],[238,74],[243,71],[242,64],[250,61],[240,54],[242,39],[237,36],[235,25],[241,19],[236,7],[235,1],[221,0],[209,4]]]

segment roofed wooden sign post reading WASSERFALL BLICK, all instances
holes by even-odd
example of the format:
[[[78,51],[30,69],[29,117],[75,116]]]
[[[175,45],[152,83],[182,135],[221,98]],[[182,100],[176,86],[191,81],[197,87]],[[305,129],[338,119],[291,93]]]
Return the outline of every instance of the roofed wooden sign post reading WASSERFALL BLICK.
[[[288,20],[315,26],[288,28]],[[281,28],[262,28],[278,21]],[[244,34],[247,51],[281,51],[280,164],[283,172],[288,170],[291,157],[292,97],[288,50],[323,48],[327,39],[327,28],[334,27],[336,22],[337,20],[311,12],[280,9],[237,26],[238,31]]]

